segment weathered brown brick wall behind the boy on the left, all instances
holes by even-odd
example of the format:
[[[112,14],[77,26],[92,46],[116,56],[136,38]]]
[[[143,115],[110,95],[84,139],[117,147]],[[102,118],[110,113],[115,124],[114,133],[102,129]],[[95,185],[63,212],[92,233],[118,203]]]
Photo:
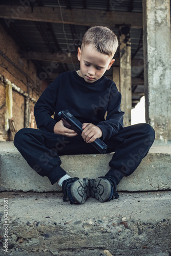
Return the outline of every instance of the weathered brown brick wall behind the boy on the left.
[[[33,65],[32,61],[20,57],[19,46],[8,34],[8,28],[7,30],[5,30],[1,25],[0,50],[4,54],[4,56],[0,54],[0,74],[37,100],[41,94],[41,90],[38,87],[35,89],[36,81],[38,80],[36,76],[35,66]],[[25,74],[23,74],[22,71]],[[41,81],[38,81],[38,84],[41,84]],[[48,83],[44,81],[44,88],[46,88],[47,86]],[[16,126],[16,130],[18,131],[19,129],[22,129],[25,125],[25,97],[14,90],[12,92],[12,96],[13,120]],[[36,128],[33,109],[34,103],[30,101],[29,127]],[[5,131],[6,110],[6,85],[4,82],[0,82],[0,131],[3,133],[4,139],[12,140],[13,138],[10,131]]]

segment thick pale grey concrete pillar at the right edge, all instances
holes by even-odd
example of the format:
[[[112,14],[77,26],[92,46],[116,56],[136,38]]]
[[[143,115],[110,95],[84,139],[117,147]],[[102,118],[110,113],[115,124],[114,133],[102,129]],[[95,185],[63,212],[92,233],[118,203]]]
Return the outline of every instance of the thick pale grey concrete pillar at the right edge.
[[[143,0],[145,118],[156,140],[171,139],[170,4]]]

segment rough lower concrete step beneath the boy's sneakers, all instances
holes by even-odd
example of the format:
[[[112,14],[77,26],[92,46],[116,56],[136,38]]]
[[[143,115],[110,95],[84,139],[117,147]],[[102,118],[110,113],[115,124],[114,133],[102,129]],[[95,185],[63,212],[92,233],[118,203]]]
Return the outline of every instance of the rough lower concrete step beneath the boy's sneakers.
[[[71,205],[61,193],[2,192],[0,255],[169,256],[170,195],[120,193],[106,203]]]

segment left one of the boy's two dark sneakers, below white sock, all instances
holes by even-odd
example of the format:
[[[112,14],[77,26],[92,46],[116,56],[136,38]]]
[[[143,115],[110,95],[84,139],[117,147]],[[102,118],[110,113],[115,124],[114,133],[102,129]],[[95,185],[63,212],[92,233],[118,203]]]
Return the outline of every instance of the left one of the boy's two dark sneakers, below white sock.
[[[70,204],[84,204],[86,199],[90,196],[89,180],[79,179],[77,177],[70,178],[62,183],[63,202],[67,202],[67,198],[70,200]]]

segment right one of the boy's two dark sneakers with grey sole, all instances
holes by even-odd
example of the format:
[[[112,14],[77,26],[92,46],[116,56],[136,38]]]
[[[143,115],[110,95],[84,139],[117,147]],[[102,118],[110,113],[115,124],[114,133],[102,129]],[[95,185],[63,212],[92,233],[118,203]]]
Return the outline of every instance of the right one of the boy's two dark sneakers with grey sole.
[[[119,198],[116,191],[116,182],[111,176],[89,179],[90,196],[99,202],[111,201]]]

